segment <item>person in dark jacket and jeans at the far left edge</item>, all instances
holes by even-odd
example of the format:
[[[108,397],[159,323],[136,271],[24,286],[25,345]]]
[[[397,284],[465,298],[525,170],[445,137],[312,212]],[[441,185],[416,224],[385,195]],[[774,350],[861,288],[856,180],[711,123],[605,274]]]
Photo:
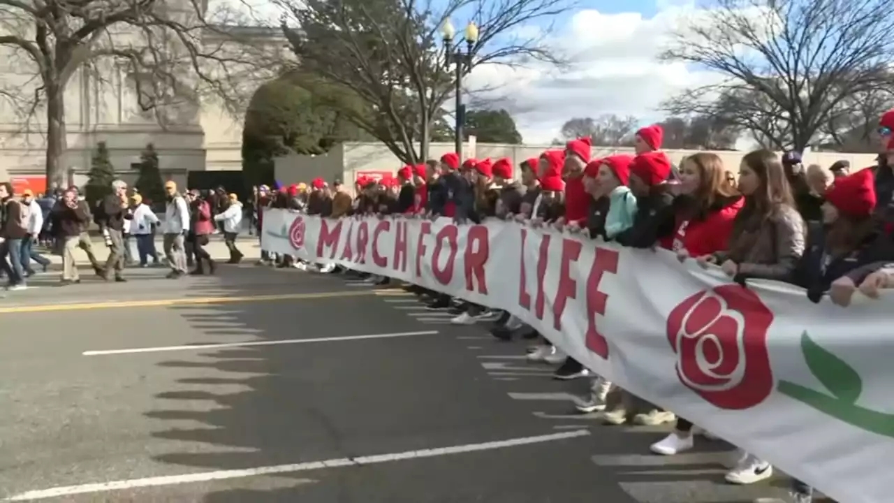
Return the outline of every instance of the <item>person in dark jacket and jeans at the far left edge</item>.
[[[28,206],[13,199],[13,184],[0,183],[0,270],[9,278],[6,288],[24,290],[25,271],[21,268],[21,240],[28,234]]]

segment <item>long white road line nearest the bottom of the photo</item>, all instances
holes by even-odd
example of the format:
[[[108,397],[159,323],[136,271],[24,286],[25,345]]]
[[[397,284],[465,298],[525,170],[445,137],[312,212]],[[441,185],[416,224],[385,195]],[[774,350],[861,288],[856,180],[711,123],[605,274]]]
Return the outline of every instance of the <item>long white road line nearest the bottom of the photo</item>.
[[[549,435],[538,435],[536,437],[521,437],[517,439],[496,440],[493,442],[484,442],[480,444],[466,444],[447,448],[413,450],[392,454],[381,454],[377,456],[358,456],[353,458],[338,457],[335,459],[326,459],[324,461],[296,463],[293,465],[259,466],[257,468],[247,468],[243,470],[185,473],[182,475],[167,475],[163,477],[149,477],[146,479],[89,483],[73,486],[55,487],[46,490],[29,490],[27,492],[22,492],[21,494],[16,494],[9,498],[6,498],[4,499],[4,501],[33,501],[35,499],[59,498],[63,496],[72,496],[75,494],[90,494],[97,492],[109,492],[113,490],[129,490],[142,487],[168,486],[195,482],[222,481],[227,479],[255,477],[259,475],[306,472],[308,470],[320,470],[323,468],[337,468],[343,466],[375,465],[379,463],[403,461],[406,459],[448,456],[452,454],[465,454],[470,452],[479,452],[499,448],[513,448],[531,444],[552,442],[555,440],[576,439],[589,435],[590,431],[587,430],[564,431],[560,433],[551,433]]]

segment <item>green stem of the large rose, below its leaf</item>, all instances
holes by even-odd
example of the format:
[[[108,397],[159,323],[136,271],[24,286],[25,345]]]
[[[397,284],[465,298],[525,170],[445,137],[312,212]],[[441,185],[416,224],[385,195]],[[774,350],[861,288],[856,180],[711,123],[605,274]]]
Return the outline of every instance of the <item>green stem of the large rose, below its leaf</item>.
[[[779,392],[790,396],[799,402],[814,407],[814,409],[831,415],[839,421],[847,422],[852,426],[865,431],[872,431],[879,435],[894,439],[894,414],[876,412],[859,405],[828,396],[811,388],[805,388],[799,384],[780,380],[777,386]]]

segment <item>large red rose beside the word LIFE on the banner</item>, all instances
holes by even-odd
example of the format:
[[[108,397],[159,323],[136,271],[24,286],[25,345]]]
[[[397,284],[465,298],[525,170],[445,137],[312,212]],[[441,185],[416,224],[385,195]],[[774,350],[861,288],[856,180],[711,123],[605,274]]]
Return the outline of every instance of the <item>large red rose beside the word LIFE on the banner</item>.
[[[680,382],[722,409],[754,407],[770,396],[767,330],[773,313],[751,290],[718,286],[671,311],[667,331]]]

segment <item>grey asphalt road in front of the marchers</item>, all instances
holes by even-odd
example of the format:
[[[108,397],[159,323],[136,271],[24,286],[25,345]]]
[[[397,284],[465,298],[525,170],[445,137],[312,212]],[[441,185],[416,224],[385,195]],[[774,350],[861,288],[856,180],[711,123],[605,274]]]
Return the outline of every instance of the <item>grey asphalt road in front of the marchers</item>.
[[[401,291],[128,273],[0,299],[0,500],[746,503],[788,483],[726,484],[721,442],[652,456],[667,429],[571,413],[586,382]]]

